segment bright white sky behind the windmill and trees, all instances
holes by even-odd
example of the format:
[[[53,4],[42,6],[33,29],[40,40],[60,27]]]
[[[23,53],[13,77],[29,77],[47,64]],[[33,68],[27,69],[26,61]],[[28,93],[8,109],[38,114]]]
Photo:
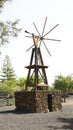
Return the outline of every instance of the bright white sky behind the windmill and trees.
[[[49,66],[46,70],[48,84],[52,84],[56,75],[70,75],[73,73],[73,0],[12,0],[7,3],[0,14],[1,20],[20,19],[19,27],[23,28],[17,38],[10,38],[8,45],[0,48],[0,68],[6,55],[9,55],[17,77],[26,77],[31,50],[26,50],[33,42],[25,37],[25,30],[34,32],[35,22],[39,32],[42,32],[45,17],[48,17],[45,33],[56,24],[59,24],[48,38],[60,39],[61,42],[46,43],[51,57],[42,45],[44,64]],[[36,33],[37,34],[37,33]]]

